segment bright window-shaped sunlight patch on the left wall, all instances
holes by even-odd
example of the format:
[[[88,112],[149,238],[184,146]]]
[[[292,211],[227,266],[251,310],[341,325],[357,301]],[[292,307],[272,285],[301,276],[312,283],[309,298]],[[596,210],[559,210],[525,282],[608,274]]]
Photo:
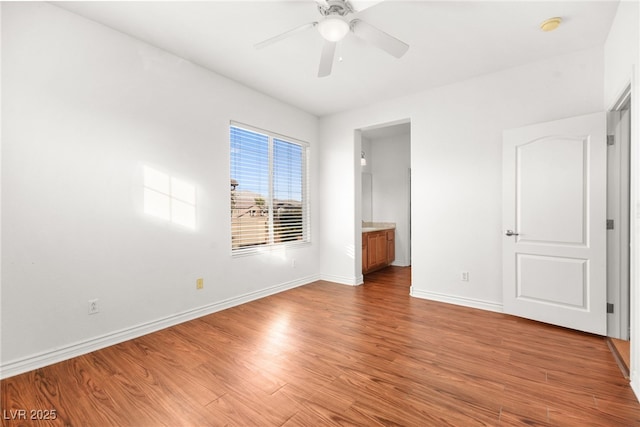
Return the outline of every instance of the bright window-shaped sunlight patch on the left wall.
[[[144,213],[195,229],[195,186],[144,166]]]

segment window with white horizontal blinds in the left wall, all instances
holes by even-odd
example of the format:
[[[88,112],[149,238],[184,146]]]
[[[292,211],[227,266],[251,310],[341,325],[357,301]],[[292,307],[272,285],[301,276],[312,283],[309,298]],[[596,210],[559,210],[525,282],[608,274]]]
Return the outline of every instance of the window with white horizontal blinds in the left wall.
[[[307,144],[232,124],[231,248],[309,241]]]

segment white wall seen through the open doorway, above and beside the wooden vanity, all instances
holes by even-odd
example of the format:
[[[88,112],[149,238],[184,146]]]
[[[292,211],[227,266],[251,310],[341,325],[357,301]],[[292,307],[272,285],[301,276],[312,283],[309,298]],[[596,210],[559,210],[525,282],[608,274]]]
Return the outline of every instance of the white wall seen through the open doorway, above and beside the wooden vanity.
[[[396,224],[396,258],[393,265],[409,261],[409,168],[411,136],[396,135],[370,142],[373,176],[373,221]]]

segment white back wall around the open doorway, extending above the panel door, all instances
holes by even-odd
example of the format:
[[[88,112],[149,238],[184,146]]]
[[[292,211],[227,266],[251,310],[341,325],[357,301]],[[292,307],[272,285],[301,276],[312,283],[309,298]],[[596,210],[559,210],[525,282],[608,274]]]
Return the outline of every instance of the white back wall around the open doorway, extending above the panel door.
[[[589,49],[322,118],[322,274],[355,276],[353,130],[409,118],[412,294],[501,310],[502,131],[602,111],[602,57]]]

